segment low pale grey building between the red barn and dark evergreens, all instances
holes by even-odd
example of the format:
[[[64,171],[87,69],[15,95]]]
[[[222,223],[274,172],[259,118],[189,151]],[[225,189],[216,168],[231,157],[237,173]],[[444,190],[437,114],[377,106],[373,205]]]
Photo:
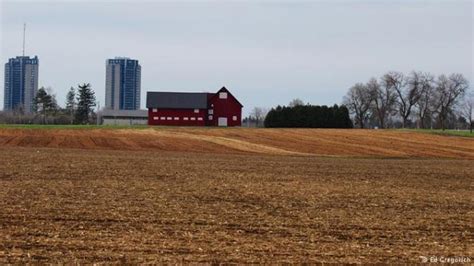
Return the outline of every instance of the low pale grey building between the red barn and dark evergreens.
[[[133,126],[148,123],[147,110],[110,110],[98,113],[102,125]]]

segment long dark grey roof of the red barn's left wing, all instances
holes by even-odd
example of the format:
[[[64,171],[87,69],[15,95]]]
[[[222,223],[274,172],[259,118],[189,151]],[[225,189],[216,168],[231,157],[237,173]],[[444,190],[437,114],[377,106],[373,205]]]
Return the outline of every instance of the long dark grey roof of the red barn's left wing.
[[[206,109],[207,93],[147,92],[146,108]]]

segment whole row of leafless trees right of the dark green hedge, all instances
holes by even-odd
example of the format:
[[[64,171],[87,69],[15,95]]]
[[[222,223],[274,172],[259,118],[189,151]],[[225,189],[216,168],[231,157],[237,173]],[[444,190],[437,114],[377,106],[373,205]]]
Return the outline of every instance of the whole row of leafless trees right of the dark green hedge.
[[[473,96],[462,74],[388,72],[356,83],[343,99],[355,126],[440,128],[473,126]]]

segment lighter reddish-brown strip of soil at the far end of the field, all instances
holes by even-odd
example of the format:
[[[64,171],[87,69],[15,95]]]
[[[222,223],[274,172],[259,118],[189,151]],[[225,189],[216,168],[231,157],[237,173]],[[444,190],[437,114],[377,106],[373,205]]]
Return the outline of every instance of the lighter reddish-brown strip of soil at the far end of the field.
[[[389,130],[157,128],[0,129],[0,146],[474,159],[474,138]]]

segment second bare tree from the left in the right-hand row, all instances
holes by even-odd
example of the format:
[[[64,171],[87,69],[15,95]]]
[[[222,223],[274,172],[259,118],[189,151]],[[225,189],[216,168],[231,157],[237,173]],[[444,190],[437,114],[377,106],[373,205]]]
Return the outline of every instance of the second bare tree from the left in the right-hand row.
[[[386,127],[387,118],[394,112],[397,95],[394,89],[395,72],[385,74],[379,83],[372,78],[367,83],[372,98],[372,109],[379,121],[380,128]]]

